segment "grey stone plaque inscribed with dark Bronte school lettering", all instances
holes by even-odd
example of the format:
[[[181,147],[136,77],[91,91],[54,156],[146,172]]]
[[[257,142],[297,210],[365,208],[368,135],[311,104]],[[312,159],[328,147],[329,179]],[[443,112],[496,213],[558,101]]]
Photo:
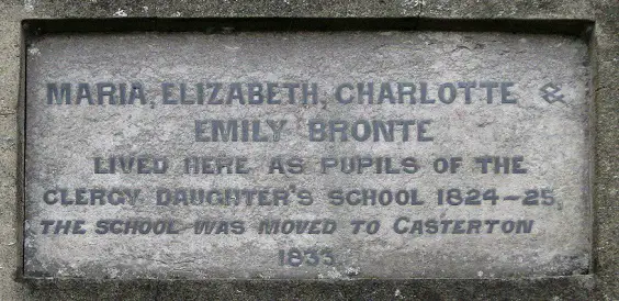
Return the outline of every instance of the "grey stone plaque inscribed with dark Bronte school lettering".
[[[582,40],[252,32],[31,42],[26,277],[588,272]]]

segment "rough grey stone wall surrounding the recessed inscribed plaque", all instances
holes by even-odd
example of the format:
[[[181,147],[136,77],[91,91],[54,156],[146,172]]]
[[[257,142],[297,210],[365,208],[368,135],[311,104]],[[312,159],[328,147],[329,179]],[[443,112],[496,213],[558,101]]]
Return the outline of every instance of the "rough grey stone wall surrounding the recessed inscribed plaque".
[[[0,2],[0,300],[23,299],[619,299],[619,2],[616,0],[161,1],[3,0]],[[23,281],[19,203],[22,21],[32,19],[322,16],[584,19],[595,22],[594,269],[587,276],[493,280]],[[412,22],[426,22],[413,19]],[[505,22],[505,21],[504,21]],[[492,22],[488,29],[493,30]],[[536,32],[536,27],[530,29]]]

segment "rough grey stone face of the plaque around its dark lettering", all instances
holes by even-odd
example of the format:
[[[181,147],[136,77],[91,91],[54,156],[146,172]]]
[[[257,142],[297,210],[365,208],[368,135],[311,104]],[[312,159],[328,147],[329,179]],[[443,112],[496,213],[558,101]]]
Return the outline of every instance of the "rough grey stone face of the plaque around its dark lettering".
[[[551,49],[551,51],[549,51]],[[33,38],[26,49],[26,276],[86,278],[266,278],[266,279],[363,279],[363,278],[502,278],[586,274],[589,269],[590,221],[588,196],[588,59],[586,44],[578,38],[555,35],[460,32],[337,32],[337,33],[234,33],[234,34],[140,34],[140,35],[56,35]],[[354,55],[351,55],[354,54]],[[285,60],[282,58],[285,57]],[[508,63],[510,62],[510,63]],[[104,67],[103,67],[104,66]],[[101,67],[101,68],[100,68]],[[513,82],[502,103],[499,89],[493,99],[485,88],[471,89],[465,104],[462,89],[454,100],[442,103],[437,97],[442,82],[486,80]],[[74,85],[142,82],[146,102],[153,105],[66,105],[47,104],[47,82]],[[316,83],[316,104],[288,104],[286,89],[277,89],[281,104],[177,104],[162,103],[161,82],[173,82],[171,98],[179,98],[178,86],[187,85],[187,98],[195,99],[198,82],[224,82],[217,99],[228,94],[230,82]],[[378,100],[381,83],[390,85],[394,100],[395,82],[414,82],[415,104],[341,104],[334,97],[344,82],[373,82]],[[419,103],[427,81],[434,104]],[[549,103],[539,96],[548,82],[562,87],[565,103]],[[454,86],[457,83],[453,83]],[[262,87],[262,90],[266,88]],[[207,94],[212,89],[205,89]],[[117,97],[119,93],[116,93]],[[344,93],[345,97],[348,94]],[[360,98],[352,92],[351,96]],[[301,99],[297,92],[297,101]],[[245,102],[245,101],[244,101]],[[492,102],[492,103],[487,103]],[[268,142],[198,142],[194,120],[258,120],[259,133]],[[281,137],[273,142],[266,120],[286,121]],[[431,121],[419,142],[417,127],[408,127],[403,142],[402,126],[395,126],[394,142],[363,138],[346,142],[311,142],[307,122],[344,120]],[[240,124],[239,124],[240,125]],[[201,136],[213,137],[206,123]],[[54,129],[54,130],[50,130]],[[371,130],[376,136],[376,130]],[[240,130],[239,130],[240,132]],[[252,134],[255,132],[251,132]],[[369,134],[369,133],[368,133]],[[240,136],[240,133],[239,133]],[[381,135],[378,135],[381,136]],[[370,135],[368,135],[370,137]],[[166,157],[165,175],[94,175],[93,157]],[[522,156],[526,174],[484,175],[475,164],[481,156]],[[184,157],[244,156],[249,171],[244,175],[185,175]],[[302,175],[269,174],[272,157],[299,157]],[[462,167],[454,174],[432,170],[439,157],[459,156]],[[372,167],[361,172],[342,172],[338,167],[320,172],[322,158],[373,158]],[[387,174],[379,157],[401,160],[416,158],[414,174]],[[386,160],[386,159],[385,159]],[[387,163],[382,164],[384,167]],[[352,164],[357,166],[357,164]],[[350,168],[350,164],[347,165]],[[491,166],[492,168],[492,166]],[[346,168],[344,168],[346,169]],[[234,171],[233,171],[234,172]],[[510,172],[514,172],[511,170]],[[75,200],[77,188],[140,189],[135,205],[46,204],[42,198],[56,188],[68,189]],[[294,187],[291,189],[290,187]],[[156,205],[155,191],[176,189],[261,189],[291,194],[290,204],[258,205],[244,196],[238,205]],[[437,204],[437,190],[457,188],[462,196],[479,189],[479,205]],[[376,193],[418,191],[423,205],[339,204],[333,205],[328,191],[346,193],[373,189]],[[492,204],[482,200],[488,189],[500,198]],[[553,205],[522,205],[525,191],[549,189]],[[306,190],[313,203],[303,205],[296,191]],[[356,192],[359,194],[360,192]],[[447,192],[444,192],[447,193]],[[474,192],[473,192],[474,193]],[[506,196],[520,196],[505,201]],[[357,199],[353,196],[352,201]],[[536,198],[537,199],[537,198]],[[540,197],[541,199],[541,197]],[[381,199],[382,200],[382,199]],[[405,200],[410,203],[412,200]],[[173,202],[173,201],[172,201]],[[246,204],[246,202],[250,202]],[[423,231],[396,234],[410,228],[410,220],[499,220],[491,234],[454,235]],[[42,220],[85,220],[85,235],[42,234]],[[179,235],[97,235],[101,219],[175,221]],[[265,220],[329,219],[337,224],[333,234],[258,234]],[[245,232],[195,235],[198,221],[241,221]],[[378,220],[376,234],[352,234],[350,221]],[[505,222],[529,223],[530,234],[519,228],[502,233]],[[187,230],[184,230],[187,228]],[[466,231],[466,230],[465,230]],[[520,234],[516,234],[520,233]],[[487,235],[486,235],[487,234]],[[192,242],[188,244],[188,242]],[[122,245],[123,247],[119,247]],[[250,246],[250,247],[248,247]],[[335,265],[278,266],[278,249],[331,249]],[[81,252],[76,254],[75,249]],[[106,252],[101,253],[101,249]],[[458,255],[454,255],[457,253]],[[92,256],[97,254],[97,256]],[[205,256],[206,254],[206,256]],[[328,258],[326,258],[328,260]],[[328,261],[326,261],[328,263]]]

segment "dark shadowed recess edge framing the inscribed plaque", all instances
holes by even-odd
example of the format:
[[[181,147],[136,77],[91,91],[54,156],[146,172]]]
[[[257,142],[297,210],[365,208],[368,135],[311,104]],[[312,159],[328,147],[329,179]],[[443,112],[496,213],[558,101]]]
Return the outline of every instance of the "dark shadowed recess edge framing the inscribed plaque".
[[[36,41],[38,36],[54,34],[108,34],[108,33],[131,33],[139,34],[145,32],[203,32],[203,33],[236,33],[236,32],[379,32],[379,31],[442,31],[442,32],[503,32],[511,34],[552,34],[564,35],[573,38],[583,40],[588,48],[587,64],[590,65],[592,53],[592,32],[594,22],[589,20],[455,20],[455,19],[420,19],[420,18],[216,18],[216,19],[145,19],[145,18],[124,18],[124,19],[26,19],[22,20],[22,79],[20,97],[18,125],[20,126],[20,147],[18,154],[18,210],[22,212],[21,220],[18,219],[20,233],[20,246],[24,246],[24,222],[25,222],[25,141],[26,141],[26,110],[25,97],[26,91],[26,60],[29,57],[27,45]],[[593,126],[595,118],[592,114],[593,96],[592,70],[589,66],[589,82],[587,83],[587,103],[588,103],[588,121],[586,124],[586,142],[588,146],[589,163],[585,176],[588,177],[587,190],[585,191],[585,202],[588,203],[589,210],[586,218],[592,220],[592,175],[594,174],[593,142],[595,133]],[[593,226],[593,225],[592,225]],[[593,233],[589,234],[593,237]],[[581,274],[574,276],[590,275],[595,253],[590,248],[592,257],[588,267]],[[21,254],[18,258],[22,258],[18,263],[18,278],[25,281],[31,280],[49,280],[45,276],[24,276],[25,250],[20,249]],[[57,278],[64,281],[67,278]],[[418,278],[412,278],[418,279]],[[436,278],[428,278],[436,279]],[[462,279],[462,278],[458,278]],[[477,278],[474,278],[477,279]],[[77,280],[77,279],[76,279]],[[82,281],[92,281],[93,279],[83,279]],[[148,279],[142,279],[148,280]],[[212,279],[222,280],[222,279]],[[250,279],[260,280],[260,279]],[[352,281],[368,280],[368,278],[358,278]],[[396,280],[396,279],[390,279]],[[403,279],[401,279],[403,280]],[[408,280],[408,279],[406,279]],[[126,281],[126,280],[112,280]],[[202,280],[200,280],[202,281]],[[211,280],[203,280],[211,281]],[[281,281],[281,279],[269,279],[268,281]],[[302,280],[302,281],[326,281],[326,280]],[[333,281],[333,280],[331,280]],[[349,280],[350,281],[350,280]],[[196,281],[199,282],[199,281]]]

